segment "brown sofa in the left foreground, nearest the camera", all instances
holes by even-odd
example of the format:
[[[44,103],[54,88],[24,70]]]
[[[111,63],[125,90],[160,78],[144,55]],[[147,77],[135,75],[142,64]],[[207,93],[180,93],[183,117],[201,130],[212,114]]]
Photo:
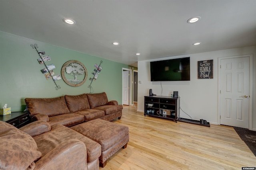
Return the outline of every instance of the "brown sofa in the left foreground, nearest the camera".
[[[63,125],[0,121],[0,169],[98,170],[101,145]]]

